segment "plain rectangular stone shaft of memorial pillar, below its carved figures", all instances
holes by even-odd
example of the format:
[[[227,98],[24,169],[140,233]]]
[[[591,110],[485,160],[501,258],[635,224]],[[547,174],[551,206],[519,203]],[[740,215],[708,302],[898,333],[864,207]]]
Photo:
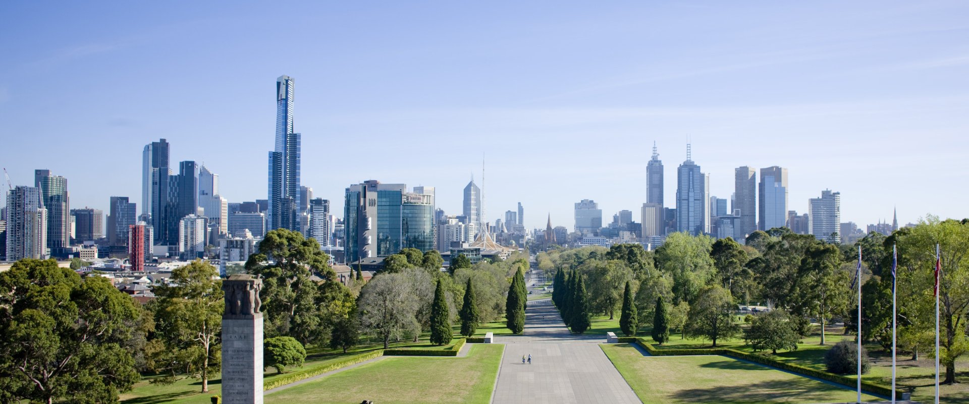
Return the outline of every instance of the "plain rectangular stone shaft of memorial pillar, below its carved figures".
[[[222,402],[263,404],[263,315],[232,317],[222,319]]]

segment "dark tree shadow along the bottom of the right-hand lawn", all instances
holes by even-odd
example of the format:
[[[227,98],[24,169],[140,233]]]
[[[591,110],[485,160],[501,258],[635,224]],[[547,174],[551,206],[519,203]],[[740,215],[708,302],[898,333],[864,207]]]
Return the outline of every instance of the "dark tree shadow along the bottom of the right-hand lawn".
[[[744,384],[742,380],[738,380],[736,381],[735,385],[730,388],[716,387],[682,389],[672,393],[672,398],[683,402],[721,404],[791,401],[825,402],[830,401],[831,399],[828,394],[831,389],[833,388],[819,388],[818,382],[801,378],[794,380],[765,381],[751,384]],[[778,400],[778,398],[781,399]]]

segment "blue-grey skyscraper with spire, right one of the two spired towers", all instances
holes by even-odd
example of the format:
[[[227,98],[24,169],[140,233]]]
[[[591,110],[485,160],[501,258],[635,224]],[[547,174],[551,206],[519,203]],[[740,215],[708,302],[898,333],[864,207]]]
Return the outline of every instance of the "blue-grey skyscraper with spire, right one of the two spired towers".
[[[709,232],[706,206],[708,183],[700,166],[693,162],[691,145],[686,144],[686,161],[676,169],[676,231],[693,235]]]

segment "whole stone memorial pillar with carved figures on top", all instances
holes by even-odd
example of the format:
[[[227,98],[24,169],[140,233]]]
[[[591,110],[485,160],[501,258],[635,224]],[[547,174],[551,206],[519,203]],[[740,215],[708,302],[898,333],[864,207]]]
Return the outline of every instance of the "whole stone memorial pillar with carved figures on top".
[[[263,280],[234,274],[222,281],[222,402],[263,404]]]

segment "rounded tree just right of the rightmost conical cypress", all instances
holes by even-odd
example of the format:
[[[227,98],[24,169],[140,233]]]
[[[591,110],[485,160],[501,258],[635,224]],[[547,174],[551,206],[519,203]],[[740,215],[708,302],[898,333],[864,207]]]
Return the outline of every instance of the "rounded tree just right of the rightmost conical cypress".
[[[732,338],[740,327],[733,321],[734,298],[719,285],[707,286],[697,295],[697,301],[690,306],[686,334],[691,338],[702,337],[713,341]]]

